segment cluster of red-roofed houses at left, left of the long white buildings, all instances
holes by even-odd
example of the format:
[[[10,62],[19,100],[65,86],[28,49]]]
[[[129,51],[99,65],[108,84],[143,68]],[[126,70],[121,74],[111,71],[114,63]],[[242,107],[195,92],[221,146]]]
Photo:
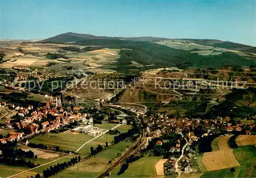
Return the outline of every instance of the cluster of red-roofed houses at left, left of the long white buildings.
[[[73,111],[71,110],[68,111],[62,107],[54,107],[56,104],[54,102],[50,104],[52,97],[49,98],[50,101],[46,102],[46,106],[38,108],[34,108],[32,105],[24,108],[21,106],[15,106],[14,104],[6,104],[5,102],[2,102],[1,107],[9,107],[9,109],[15,110],[21,119],[17,122],[10,122],[9,120],[5,121],[6,128],[15,128],[16,130],[19,130],[19,132],[15,132],[15,134],[13,134],[14,132],[10,132],[10,136],[8,138],[1,139],[0,142],[5,144],[8,141],[19,141],[22,139],[24,134],[34,134],[39,131],[50,132],[52,130],[59,129],[60,126],[70,124],[74,121],[89,121],[93,123],[92,117],[87,119],[87,115],[82,115],[80,112],[73,114]],[[58,100],[58,98],[56,100]]]

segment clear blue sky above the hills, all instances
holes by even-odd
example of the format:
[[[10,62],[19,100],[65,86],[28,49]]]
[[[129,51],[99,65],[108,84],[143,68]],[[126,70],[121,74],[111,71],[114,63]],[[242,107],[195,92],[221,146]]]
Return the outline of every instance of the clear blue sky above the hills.
[[[256,46],[256,0],[0,0],[0,39],[73,32],[219,39]]]

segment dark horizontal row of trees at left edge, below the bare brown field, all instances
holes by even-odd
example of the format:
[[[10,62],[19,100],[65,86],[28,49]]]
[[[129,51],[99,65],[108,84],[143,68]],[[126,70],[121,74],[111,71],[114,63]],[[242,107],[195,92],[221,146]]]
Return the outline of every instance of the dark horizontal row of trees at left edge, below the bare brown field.
[[[2,149],[2,154],[4,157],[26,157],[26,158],[37,158],[33,151],[24,151],[22,149],[4,148]]]

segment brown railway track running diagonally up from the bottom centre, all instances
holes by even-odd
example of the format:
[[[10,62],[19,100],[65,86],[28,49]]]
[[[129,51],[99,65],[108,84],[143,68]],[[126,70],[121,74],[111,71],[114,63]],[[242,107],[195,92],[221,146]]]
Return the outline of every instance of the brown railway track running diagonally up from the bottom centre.
[[[112,163],[108,168],[104,170],[104,172],[100,173],[99,175],[96,176],[96,178],[101,178],[105,177],[108,175],[110,171],[115,169],[120,163],[122,163],[127,157],[132,155],[135,151],[137,151],[141,146],[143,146],[144,141],[146,140],[145,138],[145,131],[142,130],[141,138],[134,144],[132,147],[129,148],[129,150],[125,151],[122,156],[120,156],[114,163]]]

